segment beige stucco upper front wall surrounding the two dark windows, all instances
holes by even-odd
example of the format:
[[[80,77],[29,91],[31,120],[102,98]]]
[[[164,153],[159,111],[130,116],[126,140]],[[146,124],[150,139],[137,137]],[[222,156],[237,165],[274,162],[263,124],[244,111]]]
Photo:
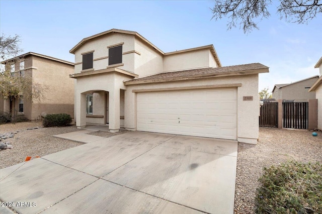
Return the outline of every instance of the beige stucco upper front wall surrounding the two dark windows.
[[[95,38],[89,42],[86,42],[84,45],[79,47],[75,51],[75,63],[83,61],[83,55],[81,53],[85,53],[88,51],[94,50],[93,59],[98,59],[101,57],[107,57],[109,54],[108,46],[119,44],[124,42],[122,45],[122,52],[128,52],[134,50],[134,35],[127,35],[121,33],[113,33],[107,34],[98,38]],[[109,63],[108,58],[95,60],[93,62],[94,70],[105,69]],[[134,71],[134,53],[124,54],[122,55],[122,63],[123,66],[117,66],[120,69],[127,71]],[[81,73],[83,64],[75,65],[75,73]]]

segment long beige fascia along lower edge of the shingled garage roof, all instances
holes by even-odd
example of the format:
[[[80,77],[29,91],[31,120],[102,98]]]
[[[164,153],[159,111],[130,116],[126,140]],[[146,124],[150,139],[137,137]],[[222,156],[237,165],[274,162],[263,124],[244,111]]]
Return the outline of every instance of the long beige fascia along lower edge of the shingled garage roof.
[[[148,80],[138,80],[138,81],[131,81],[130,79],[130,80],[123,81],[123,83],[124,85],[134,85],[134,84],[169,82],[169,81],[202,79],[202,78],[223,77],[223,76],[251,75],[251,74],[268,73],[268,72],[269,72],[268,68],[262,68],[262,69],[254,69],[254,70],[224,72],[224,73],[217,73],[217,74],[201,74],[201,75],[182,76],[182,77],[170,77],[170,78],[162,78],[162,79],[148,79]]]

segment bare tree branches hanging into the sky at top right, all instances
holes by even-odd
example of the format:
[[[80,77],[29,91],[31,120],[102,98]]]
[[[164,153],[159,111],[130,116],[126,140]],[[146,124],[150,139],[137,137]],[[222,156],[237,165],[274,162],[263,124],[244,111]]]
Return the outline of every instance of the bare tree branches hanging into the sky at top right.
[[[215,0],[211,9],[211,19],[228,17],[227,29],[243,26],[244,33],[251,32],[254,28],[259,29],[258,22],[268,19],[271,14],[268,7],[271,0]],[[287,22],[307,24],[317,14],[322,13],[321,0],[280,0],[277,8],[280,19]]]

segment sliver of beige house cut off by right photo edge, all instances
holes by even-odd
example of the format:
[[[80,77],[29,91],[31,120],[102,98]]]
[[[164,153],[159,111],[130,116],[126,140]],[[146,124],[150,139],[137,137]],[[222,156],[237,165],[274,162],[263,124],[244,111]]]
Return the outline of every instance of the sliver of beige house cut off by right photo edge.
[[[314,68],[319,68],[320,77],[313,83],[308,90],[311,93],[315,92],[317,99],[317,128],[322,130],[322,57],[317,61]]]

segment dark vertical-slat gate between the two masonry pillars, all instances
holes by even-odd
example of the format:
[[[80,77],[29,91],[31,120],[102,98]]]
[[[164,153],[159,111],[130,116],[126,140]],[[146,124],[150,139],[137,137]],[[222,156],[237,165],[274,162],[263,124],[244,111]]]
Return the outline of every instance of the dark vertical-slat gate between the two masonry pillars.
[[[283,128],[307,129],[307,117],[307,102],[283,102]]]

